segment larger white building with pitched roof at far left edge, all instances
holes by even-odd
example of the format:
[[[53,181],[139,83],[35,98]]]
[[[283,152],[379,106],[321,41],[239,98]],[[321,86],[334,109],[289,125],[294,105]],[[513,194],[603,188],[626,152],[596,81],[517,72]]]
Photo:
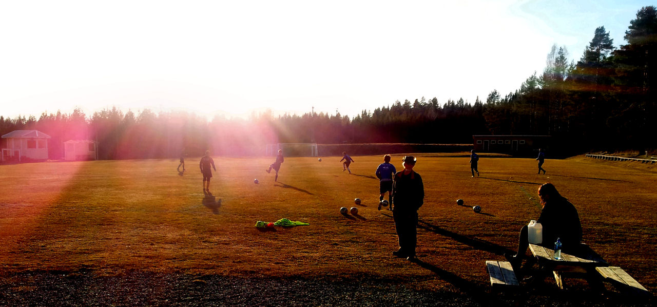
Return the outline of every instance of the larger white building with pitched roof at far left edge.
[[[14,130],[2,136],[2,160],[48,159],[47,135],[37,130]]]

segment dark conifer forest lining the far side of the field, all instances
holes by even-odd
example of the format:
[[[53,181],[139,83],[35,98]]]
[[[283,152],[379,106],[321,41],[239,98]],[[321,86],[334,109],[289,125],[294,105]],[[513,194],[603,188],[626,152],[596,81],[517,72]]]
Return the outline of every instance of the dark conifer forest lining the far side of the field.
[[[268,143],[472,143],[472,135],[551,135],[573,153],[590,149],[654,149],[657,137],[657,10],[643,7],[616,49],[600,26],[577,61],[564,47],[549,51],[545,70],[514,92],[493,90],[485,101],[438,98],[396,101],[353,118],[306,113],[252,114],[247,120],[188,112],[104,109],[86,116],[43,113],[3,118],[0,133],[36,129],[53,137],[52,158],[62,142],[92,139],[99,156],[164,158],[181,151],[199,155],[263,154]]]

